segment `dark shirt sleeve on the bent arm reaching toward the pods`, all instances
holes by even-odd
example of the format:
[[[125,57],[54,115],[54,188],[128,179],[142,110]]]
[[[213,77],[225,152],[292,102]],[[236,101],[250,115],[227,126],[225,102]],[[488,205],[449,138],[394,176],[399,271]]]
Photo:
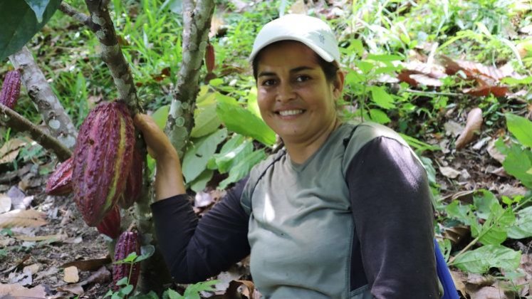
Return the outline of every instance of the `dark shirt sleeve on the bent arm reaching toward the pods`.
[[[199,221],[187,194],[152,204],[157,241],[178,283],[203,281],[249,255],[249,216],[240,204],[246,182],[238,182]]]

